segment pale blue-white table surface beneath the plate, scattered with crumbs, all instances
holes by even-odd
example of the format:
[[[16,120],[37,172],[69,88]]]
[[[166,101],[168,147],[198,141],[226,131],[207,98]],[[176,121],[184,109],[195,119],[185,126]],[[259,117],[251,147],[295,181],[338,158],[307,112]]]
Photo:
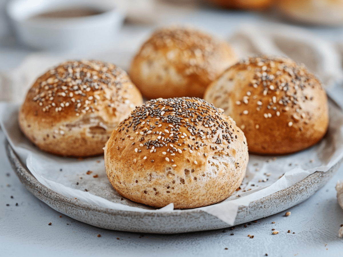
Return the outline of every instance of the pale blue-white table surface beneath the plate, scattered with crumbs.
[[[3,4],[0,0],[0,69],[10,70],[35,51],[16,41],[3,16]],[[161,24],[176,21],[227,37],[244,22],[275,18],[202,8],[169,16]],[[134,47],[161,24],[126,25],[116,44]],[[343,41],[342,28],[307,29],[328,40]],[[343,180],[343,167],[314,196],[288,209],[292,213],[288,217],[284,211],[232,230],[140,234],[96,228],[51,209],[20,183],[3,142],[0,130],[0,256],[343,256],[343,238],[338,237],[343,210],[335,191],[336,182]],[[272,229],[279,234],[272,235]]]

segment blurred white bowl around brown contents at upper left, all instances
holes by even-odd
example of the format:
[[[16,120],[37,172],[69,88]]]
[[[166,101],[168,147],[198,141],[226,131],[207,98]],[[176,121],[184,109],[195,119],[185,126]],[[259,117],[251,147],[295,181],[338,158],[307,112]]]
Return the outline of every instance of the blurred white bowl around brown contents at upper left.
[[[66,18],[37,16],[76,8],[100,13]],[[113,1],[106,0],[11,0],[7,13],[20,41],[44,50],[86,48],[113,40],[125,17]]]

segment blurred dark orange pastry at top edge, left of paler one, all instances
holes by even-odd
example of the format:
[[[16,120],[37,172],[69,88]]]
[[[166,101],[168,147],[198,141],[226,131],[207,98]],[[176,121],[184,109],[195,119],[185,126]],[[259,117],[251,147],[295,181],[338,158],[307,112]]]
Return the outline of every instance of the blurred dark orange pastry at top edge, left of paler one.
[[[225,8],[235,9],[266,9],[273,0],[211,0],[215,4]]]

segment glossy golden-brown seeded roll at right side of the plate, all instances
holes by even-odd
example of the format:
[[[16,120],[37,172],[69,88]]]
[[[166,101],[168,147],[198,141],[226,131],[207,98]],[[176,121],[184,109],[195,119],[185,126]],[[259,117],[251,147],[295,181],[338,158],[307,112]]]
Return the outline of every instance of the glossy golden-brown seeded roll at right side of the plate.
[[[204,94],[244,131],[250,152],[288,154],[316,144],[329,123],[318,79],[290,59],[253,57],[233,65]]]

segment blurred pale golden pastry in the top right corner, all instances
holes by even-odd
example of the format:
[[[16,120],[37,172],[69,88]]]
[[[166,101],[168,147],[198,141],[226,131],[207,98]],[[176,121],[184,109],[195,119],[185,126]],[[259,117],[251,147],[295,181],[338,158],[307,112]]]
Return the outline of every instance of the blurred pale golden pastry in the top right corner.
[[[275,4],[293,21],[316,25],[343,24],[343,0],[279,0]]]

